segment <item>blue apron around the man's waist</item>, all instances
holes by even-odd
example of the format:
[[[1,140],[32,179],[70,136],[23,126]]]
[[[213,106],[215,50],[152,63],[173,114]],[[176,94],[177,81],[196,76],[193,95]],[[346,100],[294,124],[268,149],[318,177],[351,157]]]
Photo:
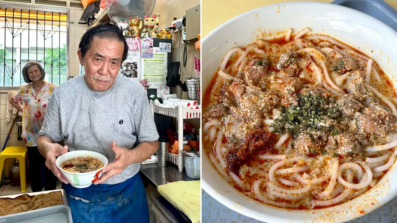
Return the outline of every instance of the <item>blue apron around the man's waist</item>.
[[[73,223],[148,223],[146,191],[139,173],[118,184],[79,189],[63,185]]]

